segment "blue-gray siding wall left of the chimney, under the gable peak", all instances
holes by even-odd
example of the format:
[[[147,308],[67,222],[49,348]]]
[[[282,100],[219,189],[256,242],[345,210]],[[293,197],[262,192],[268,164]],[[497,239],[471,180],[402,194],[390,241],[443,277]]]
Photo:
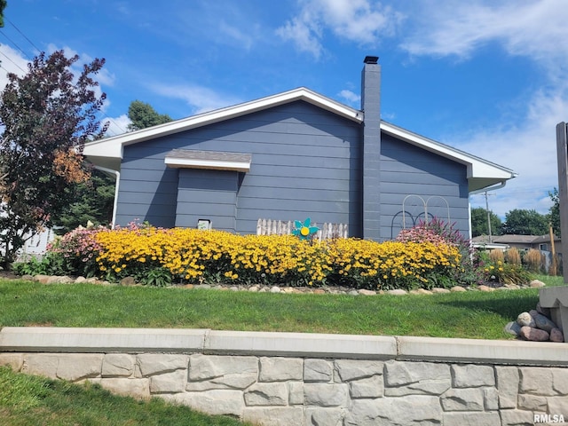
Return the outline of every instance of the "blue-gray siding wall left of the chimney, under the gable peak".
[[[203,187],[189,182],[217,185],[216,170],[165,166],[165,155],[182,148],[252,154],[247,173],[226,172],[238,175],[237,233],[256,233],[258,218],[311,217],[318,223],[349,224],[350,234],[360,235],[360,131],[355,122],[298,101],[124,146],[116,223],[138,219],[156,226],[195,227],[199,216],[210,218],[216,229],[231,229],[226,225],[231,218],[227,198],[208,197]]]

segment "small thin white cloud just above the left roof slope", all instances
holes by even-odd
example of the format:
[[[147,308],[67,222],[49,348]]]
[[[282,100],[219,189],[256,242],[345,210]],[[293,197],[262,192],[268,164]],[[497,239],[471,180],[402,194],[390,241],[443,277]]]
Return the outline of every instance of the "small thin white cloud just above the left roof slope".
[[[241,99],[194,84],[156,84],[152,89],[162,96],[185,100],[187,105],[193,108],[193,114],[205,113],[217,108],[241,103]]]

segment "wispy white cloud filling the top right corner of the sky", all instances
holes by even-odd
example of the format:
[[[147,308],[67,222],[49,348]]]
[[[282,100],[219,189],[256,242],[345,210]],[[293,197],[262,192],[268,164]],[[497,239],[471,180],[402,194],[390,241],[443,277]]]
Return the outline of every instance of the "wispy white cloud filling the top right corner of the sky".
[[[511,55],[542,61],[565,62],[568,43],[568,8],[560,0],[426,2],[419,13],[418,27],[402,47],[416,55],[468,58],[492,42],[501,43]],[[562,64],[565,66],[565,64]],[[558,64],[556,64],[556,67]]]

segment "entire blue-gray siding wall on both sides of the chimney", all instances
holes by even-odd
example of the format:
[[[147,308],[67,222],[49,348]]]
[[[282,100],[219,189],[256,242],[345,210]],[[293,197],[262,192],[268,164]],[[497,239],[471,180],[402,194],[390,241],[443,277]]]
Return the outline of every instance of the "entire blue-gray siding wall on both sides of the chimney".
[[[468,236],[466,166],[387,134],[382,139],[379,240],[397,236],[403,204],[406,227],[423,217],[422,200],[429,216],[449,217]],[[125,146],[116,223],[195,227],[209,219],[214,229],[256,233],[259,218],[311,217],[349,224],[349,235],[362,237],[361,141],[357,123],[298,101]],[[166,154],[177,148],[252,154],[252,163],[246,173],[166,167]]]

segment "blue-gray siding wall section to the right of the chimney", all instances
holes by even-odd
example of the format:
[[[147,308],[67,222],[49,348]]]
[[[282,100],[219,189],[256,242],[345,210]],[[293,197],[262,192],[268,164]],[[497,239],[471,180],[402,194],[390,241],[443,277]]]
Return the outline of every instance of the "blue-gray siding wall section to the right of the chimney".
[[[466,166],[390,135],[383,134],[381,144],[382,240],[396,238],[403,227],[416,225],[424,218],[424,204],[429,217],[445,222],[449,217],[454,229],[469,238]]]

